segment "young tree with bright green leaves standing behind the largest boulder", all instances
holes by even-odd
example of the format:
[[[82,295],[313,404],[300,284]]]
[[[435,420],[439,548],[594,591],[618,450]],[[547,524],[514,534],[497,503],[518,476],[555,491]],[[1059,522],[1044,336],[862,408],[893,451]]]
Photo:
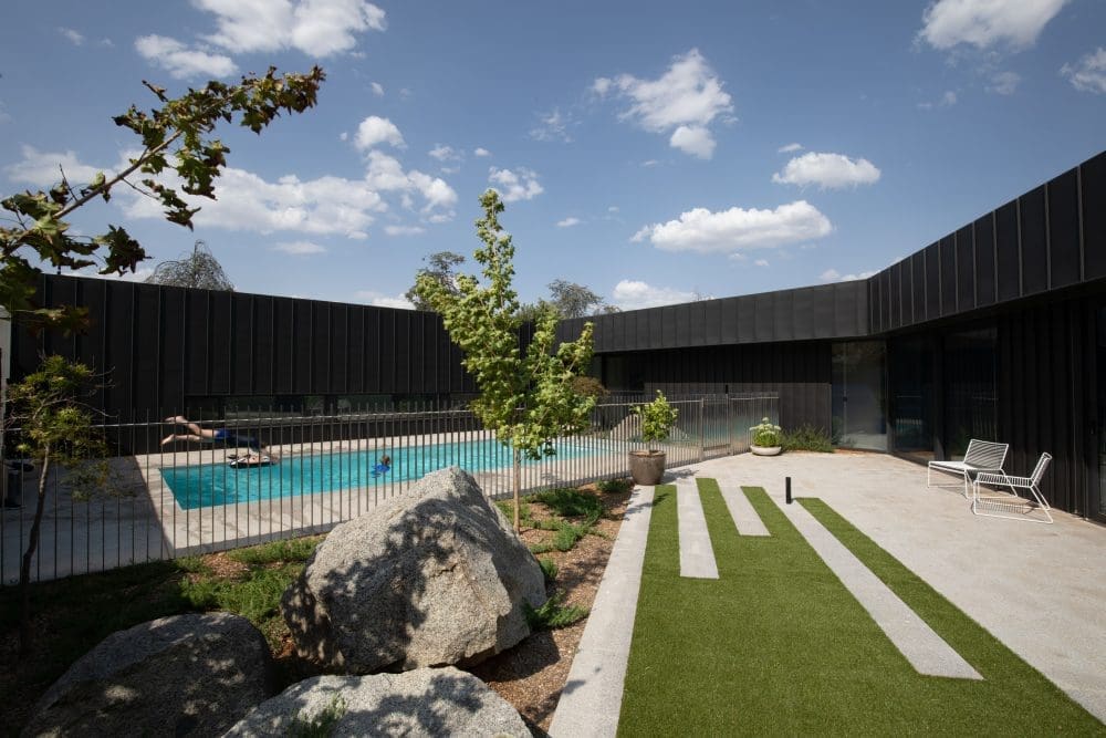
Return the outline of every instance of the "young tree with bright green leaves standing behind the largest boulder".
[[[426,273],[416,290],[441,313],[453,343],[465,352],[465,368],[476,378],[480,397],[472,409],[500,443],[514,451],[514,529],[520,530],[522,458],[553,456],[555,438],[587,427],[595,398],[577,393],[573,377],[592,361],[592,324],[580,337],[554,350],[557,315],[546,310],[538,320],[525,355],[519,350],[519,297],[514,279],[514,246],[502,232],[503,204],[495,190],[480,197],[484,217],[477,220],[483,246],[474,253],[486,284],[476,277],[457,278],[457,293]]]

